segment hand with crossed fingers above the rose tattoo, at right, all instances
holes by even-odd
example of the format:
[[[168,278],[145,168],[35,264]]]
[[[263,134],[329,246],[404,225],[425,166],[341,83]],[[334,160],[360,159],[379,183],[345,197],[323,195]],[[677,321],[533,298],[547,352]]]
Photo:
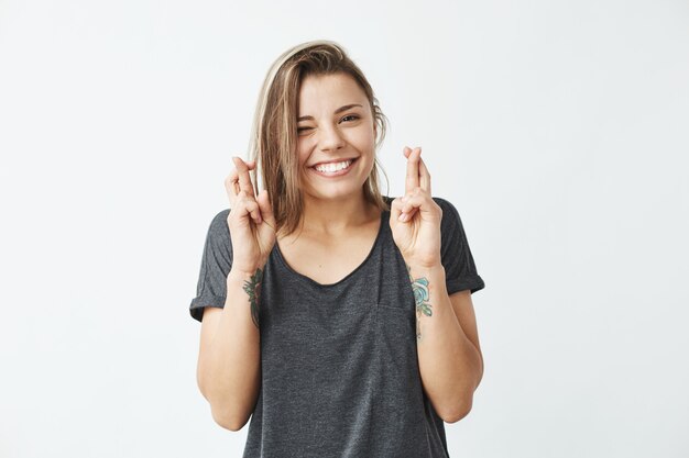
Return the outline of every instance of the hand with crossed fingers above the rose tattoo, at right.
[[[408,266],[434,267],[440,265],[442,210],[430,196],[430,175],[420,154],[420,147],[404,148],[405,194],[392,201],[390,228]]]

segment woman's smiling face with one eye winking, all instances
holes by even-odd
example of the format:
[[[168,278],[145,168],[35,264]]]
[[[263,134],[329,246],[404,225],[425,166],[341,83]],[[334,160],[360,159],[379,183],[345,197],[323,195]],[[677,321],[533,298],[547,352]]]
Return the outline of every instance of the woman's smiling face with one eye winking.
[[[361,194],[375,160],[375,124],[349,75],[307,76],[297,114],[299,180],[305,198]]]

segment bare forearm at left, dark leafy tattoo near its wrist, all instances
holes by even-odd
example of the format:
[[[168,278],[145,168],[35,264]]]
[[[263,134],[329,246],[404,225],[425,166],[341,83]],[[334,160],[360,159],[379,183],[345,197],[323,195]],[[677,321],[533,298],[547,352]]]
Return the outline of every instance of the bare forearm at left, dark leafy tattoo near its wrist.
[[[249,418],[259,393],[261,348],[255,292],[260,284],[255,280],[255,275],[230,272],[225,308],[205,358],[199,361],[204,395],[214,417],[232,429],[241,428]]]

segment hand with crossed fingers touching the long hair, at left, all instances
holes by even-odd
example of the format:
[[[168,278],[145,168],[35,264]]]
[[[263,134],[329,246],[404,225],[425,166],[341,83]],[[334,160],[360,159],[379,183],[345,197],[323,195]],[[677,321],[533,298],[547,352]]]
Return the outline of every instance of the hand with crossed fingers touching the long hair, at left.
[[[232,270],[253,275],[263,268],[275,244],[275,217],[267,191],[254,196],[249,170],[255,161],[232,157],[234,169],[225,180],[230,198],[227,222],[232,242]]]

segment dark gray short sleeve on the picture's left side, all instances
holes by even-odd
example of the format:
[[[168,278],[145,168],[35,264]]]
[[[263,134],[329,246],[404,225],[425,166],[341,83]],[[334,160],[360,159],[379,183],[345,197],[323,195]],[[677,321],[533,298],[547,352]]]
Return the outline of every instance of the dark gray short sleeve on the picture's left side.
[[[201,321],[206,306],[225,306],[227,295],[227,276],[232,267],[232,243],[227,225],[229,209],[219,212],[210,222],[201,268],[196,287],[196,298],[192,300],[189,313],[195,320]]]

